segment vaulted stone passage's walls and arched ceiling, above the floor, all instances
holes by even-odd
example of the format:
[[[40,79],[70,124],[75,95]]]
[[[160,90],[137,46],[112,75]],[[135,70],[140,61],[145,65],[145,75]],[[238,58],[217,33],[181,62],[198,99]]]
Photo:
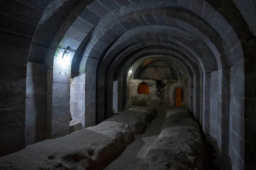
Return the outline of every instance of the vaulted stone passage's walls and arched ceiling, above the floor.
[[[70,115],[91,127],[131,99],[175,105],[182,88],[233,169],[255,169],[253,0],[0,4],[0,156],[66,136]],[[149,94],[134,95],[142,81]]]

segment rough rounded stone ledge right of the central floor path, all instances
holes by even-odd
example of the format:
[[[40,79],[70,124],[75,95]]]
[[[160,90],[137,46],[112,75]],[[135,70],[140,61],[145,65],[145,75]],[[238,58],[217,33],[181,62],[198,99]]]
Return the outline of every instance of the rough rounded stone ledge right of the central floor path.
[[[202,166],[203,142],[198,123],[186,109],[167,109],[163,129],[137,170],[202,170]]]

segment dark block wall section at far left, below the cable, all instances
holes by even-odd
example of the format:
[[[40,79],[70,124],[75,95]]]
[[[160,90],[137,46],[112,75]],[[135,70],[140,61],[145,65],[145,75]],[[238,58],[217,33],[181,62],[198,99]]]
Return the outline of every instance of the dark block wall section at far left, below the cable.
[[[0,34],[0,156],[25,147],[26,68],[31,40]]]

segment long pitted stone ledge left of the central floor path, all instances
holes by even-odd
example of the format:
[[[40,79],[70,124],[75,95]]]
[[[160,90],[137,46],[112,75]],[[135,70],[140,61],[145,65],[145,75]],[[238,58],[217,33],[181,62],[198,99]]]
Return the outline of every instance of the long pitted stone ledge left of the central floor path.
[[[134,141],[135,134],[143,133],[154,116],[153,109],[130,108],[99,125],[3,156],[0,170],[104,169]]]

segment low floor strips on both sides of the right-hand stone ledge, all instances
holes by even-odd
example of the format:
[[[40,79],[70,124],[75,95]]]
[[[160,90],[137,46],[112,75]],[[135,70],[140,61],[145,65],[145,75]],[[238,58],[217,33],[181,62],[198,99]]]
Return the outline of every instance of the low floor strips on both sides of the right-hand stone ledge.
[[[129,144],[122,155],[111,162],[105,170],[135,170],[140,161],[145,159],[148,147],[158,138],[166,119],[166,113],[163,110],[168,107],[167,105],[157,106],[156,117],[148,124],[145,133],[135,135],[134,142]],[[229,157],[221,156],[215,139],[209,135],[203,136],[205,137],[203,170],[231,170]]]

